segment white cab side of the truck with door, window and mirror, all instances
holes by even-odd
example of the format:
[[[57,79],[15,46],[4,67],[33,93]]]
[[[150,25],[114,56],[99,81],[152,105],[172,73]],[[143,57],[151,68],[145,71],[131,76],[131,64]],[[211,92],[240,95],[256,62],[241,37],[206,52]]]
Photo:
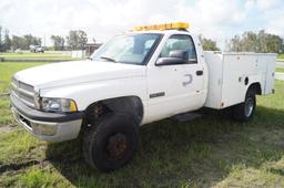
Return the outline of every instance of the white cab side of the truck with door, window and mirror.
[[[185,30],[158,33],[162,39],[145,65],[142,124],[197,109],[206,100],[207,67],[199,39]]]

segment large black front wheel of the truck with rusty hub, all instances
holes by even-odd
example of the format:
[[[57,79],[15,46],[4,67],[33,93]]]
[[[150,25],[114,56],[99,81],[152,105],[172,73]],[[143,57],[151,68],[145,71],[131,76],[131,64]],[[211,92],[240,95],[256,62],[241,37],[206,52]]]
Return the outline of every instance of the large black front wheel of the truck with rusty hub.
[[[83,153],[88,164],[102,171],[126,165],[138,147],[138,127],[126,115],[101,117],[98,125],[85,130]]]

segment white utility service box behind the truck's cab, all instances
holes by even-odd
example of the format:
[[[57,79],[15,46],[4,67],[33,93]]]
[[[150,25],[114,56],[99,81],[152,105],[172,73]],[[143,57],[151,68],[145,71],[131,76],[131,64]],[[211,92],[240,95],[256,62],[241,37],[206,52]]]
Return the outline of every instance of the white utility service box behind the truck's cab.
[[[262,94],[274,88],[276,56],[273,53],[205,52],[209,67],[206,107],[225,108],[244,101],[250,83],[260,83]],[[247,77],[247,84],[244,84]]]

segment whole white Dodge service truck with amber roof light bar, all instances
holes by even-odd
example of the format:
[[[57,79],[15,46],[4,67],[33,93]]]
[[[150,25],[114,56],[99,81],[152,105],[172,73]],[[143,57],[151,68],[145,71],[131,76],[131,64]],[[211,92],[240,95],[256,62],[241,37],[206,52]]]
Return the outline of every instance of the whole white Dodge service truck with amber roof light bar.
[[[250,121],[255,95],[274,93],[275,54],[204,52],[187,23],[138,27],[91,60],[16,73],[14,118],[47,142],[82,136],[88,164],[109,171],[138,147],[139,126],[202,107]]]

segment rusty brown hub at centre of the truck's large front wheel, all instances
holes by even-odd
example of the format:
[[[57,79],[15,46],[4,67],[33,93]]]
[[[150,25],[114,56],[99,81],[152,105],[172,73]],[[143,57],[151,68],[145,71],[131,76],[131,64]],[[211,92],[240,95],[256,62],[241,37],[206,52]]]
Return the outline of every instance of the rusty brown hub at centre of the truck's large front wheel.
[[[126,136],[118,133],[109,138],[108,154],[110,159],[121,158],[128,148]]]

